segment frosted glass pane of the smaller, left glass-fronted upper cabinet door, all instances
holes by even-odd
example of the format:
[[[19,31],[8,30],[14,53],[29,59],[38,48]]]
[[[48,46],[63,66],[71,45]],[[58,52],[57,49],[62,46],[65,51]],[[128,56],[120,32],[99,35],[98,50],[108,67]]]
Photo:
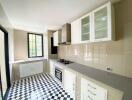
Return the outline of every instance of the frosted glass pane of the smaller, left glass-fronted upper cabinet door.
[[[90,20],[89,16],[83,18],[81,20],[81,40],[89,40],[89,33],[90,33]]]

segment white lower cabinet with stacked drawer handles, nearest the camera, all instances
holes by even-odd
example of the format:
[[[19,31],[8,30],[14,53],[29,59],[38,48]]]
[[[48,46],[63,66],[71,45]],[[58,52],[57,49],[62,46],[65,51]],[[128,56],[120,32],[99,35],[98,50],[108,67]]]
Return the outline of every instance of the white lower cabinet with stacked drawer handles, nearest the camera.
[[[81,100],[108,100],[107,90],[81,78]]]

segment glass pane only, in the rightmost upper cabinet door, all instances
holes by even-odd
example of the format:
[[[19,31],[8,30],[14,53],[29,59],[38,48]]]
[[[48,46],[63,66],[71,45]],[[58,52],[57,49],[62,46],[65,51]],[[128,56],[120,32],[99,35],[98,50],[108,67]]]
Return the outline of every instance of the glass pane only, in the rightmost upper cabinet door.
[[[95,39],[107,37],[107,7],[95,12]]]

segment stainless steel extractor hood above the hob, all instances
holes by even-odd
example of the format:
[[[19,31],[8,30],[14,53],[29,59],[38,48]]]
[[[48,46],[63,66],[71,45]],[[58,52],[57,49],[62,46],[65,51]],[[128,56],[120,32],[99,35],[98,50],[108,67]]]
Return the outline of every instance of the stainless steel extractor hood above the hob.
[[[66,23],[62,26],[61,42],[59,45],[71,44],[71,24]]]

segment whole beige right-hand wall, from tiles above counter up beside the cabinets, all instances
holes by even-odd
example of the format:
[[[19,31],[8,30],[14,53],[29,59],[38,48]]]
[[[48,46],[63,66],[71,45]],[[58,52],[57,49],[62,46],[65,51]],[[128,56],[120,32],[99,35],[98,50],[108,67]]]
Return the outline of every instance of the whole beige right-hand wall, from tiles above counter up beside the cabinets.
[[[132,78],[132,0],[114,5],[116,41],[59,47],[59,57]]]

